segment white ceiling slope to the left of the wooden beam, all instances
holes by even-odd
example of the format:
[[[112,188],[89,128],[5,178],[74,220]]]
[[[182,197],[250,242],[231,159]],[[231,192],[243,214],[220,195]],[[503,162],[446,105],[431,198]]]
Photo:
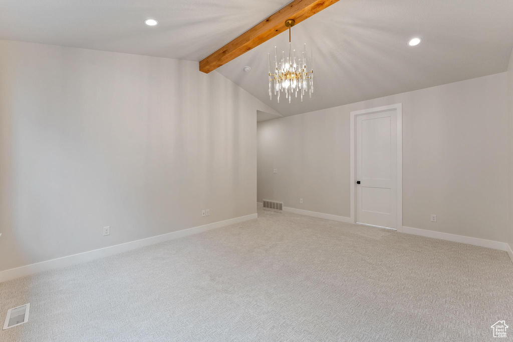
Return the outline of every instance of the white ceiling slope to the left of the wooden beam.
[[[201,61],[289,2],[0,0],[0,39]]]

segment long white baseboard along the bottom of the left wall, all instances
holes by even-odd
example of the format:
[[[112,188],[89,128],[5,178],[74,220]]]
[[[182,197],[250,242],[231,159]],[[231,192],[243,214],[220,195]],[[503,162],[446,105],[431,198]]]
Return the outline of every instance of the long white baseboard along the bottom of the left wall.
[[[250,214],[250,215],[246,215],[246,216],[235,217],[235,218],[227,219],[227,220],[220,221],[220,222],[214,222],[214,223],[204,225],[204,226],[188,228],[188,229],[179,230],[179,231],[171,232],[171,233],[167,233],[167,234],[147,237],[144,239],[127,242],[127,243],[120,244],[120,245],[109,246],[109,247],[95,249],[95,250],[88,251],[88,252],[83,252],[83,253],[64,256],[61,258],[52,259],[52,260],[42,261],[41,263],[12,268],[10,270],[5,270],[5,271],[0,272],[0,283],[2,283],[2,281],[11,280],[11,279],[23,277],[23,276],[34,274],[34,273],[39,273],[39,272],[48,271],[48,270],[52,270],[52,269],[56,269],[56,268],[80,264],[80,263],[84,263],[85,261],[90,261],[90,260],[102,258],[102,257],[109,256],[109,255],[123,253],[126,251],[158,244],[158,243],[172,240],[175,238],[184,237],[184,236],[192,235],[192,234],[197,234],[197,233],[205,232],[207,230],[211,230],[211,229],[215,229],[215,228],[233,225],[233,224],[244,222],[244,221],[247,221],[247,220],[250,220],[253,218],[257,218],[257,217],[258,217],[257,214]]]

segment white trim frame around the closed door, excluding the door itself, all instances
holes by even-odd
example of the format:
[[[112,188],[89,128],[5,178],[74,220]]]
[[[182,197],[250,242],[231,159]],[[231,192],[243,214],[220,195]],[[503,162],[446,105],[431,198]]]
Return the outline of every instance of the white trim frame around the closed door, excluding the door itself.
[[[351,157],[351,222],[356,224],[356,117],[359,115],[388,112],[396,110],[397,112],[397,219],[396,229],[403,231],[403,104],[388,105],[369,109],[355,110],[350,113],[350,157]]]

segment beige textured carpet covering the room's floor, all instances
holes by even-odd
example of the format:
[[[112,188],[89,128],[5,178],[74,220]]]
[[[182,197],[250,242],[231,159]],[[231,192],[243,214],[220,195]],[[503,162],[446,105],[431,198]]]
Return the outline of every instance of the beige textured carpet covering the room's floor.
[[[505,252],[259,210],[259,218],[0,284],[1,341],[513,340]]]

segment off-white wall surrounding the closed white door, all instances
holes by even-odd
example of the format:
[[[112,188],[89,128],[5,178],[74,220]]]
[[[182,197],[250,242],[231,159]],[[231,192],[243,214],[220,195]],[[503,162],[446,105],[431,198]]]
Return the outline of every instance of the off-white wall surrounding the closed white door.
[[[403,226],[505,242],[505,72],[258,123],[258,202],[349,217],[349,113],[396,103]]]

